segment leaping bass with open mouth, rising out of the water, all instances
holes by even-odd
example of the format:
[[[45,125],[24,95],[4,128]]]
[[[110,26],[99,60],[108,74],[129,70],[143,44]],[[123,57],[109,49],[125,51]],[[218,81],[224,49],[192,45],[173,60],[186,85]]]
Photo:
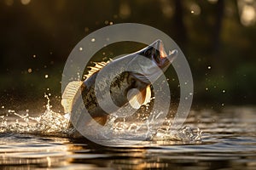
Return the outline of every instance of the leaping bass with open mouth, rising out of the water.
[[[118,107],[130,104],[138,109],[150,101],[150,85],[166,71],[176,57],[177,49],[166,54],[163,42],[156,40],[136,53],[108,62],[95,63],[94,67],[90,67],[84,82],[74,81],[67,84],[61,99],[64,112],[76,112],[73,110],[76,109],[74,105],[77,105],[79,95],[82,95],[84,106],[90,116],[101,125],[107,122],[111,114],[99,105],[104,103],[105,107],[112,107],[108,106],[107,94],[110,94],[113,104]],[[105,71],[106,75],[96,80],[101,71]],[[96,96],[96,90],[100,96]],[[110,110],[114,112],[117,109]]]

